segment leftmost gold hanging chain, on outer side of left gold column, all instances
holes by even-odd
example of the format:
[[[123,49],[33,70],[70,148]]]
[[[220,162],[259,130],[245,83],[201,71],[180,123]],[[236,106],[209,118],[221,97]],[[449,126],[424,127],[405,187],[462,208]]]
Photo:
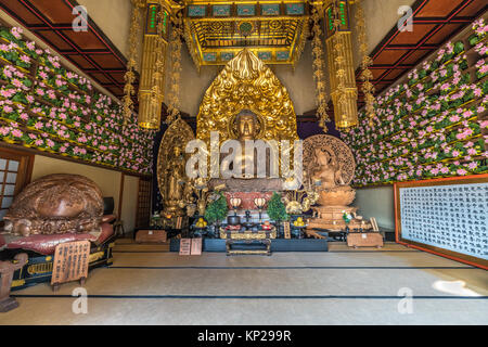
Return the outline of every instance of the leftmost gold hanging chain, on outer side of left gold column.
[[[124,87],[124,124],[133,114],[133,101],[132,97],[136,94],[133,82],[136,81],[136,65],[138,62],[138,42],[140,37],[141,26],[139,24],[141,20],[141,9],[145,7],[143,0],[132,0],[132,18],[130,21],[129,31],[129,60],[127,62],[127,72],[125,75],[126,86]]]

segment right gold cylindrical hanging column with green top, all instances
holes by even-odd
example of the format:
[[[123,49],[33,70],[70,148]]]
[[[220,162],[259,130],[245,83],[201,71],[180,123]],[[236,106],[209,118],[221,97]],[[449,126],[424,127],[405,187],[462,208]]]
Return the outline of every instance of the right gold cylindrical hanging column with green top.
[[[333,0],[328,5],[325,26],[335,125],[338,129],[348,129],[358,125],[358,89],[352,60],[348,0]]]

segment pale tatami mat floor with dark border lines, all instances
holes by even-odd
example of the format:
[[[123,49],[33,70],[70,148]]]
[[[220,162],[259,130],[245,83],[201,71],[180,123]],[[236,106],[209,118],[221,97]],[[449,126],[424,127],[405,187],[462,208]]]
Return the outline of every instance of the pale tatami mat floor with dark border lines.
[[[114,265],[90,272],[87,314],[72,310],[77,286],[15,292],[21,307],[0,313],[0,324],[488,323],[486,271],[393,243],[180,257],[168,245],[118,240]]]

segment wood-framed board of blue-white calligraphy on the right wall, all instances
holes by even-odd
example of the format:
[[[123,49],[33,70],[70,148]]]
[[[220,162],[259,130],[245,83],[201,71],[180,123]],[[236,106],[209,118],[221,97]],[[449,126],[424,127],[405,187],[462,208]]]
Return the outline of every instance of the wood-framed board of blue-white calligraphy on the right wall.
[[[395,184],[397,243],[488,269],[488,175]]]

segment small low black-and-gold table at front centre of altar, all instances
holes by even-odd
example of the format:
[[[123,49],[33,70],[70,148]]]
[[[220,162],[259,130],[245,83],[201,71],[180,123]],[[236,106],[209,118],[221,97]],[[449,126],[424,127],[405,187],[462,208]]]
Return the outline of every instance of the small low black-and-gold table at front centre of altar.
[[[259,231],[233,231],[220,228],[220,239],[226,240],[227,255],[271,255],[271,240],[277,239],[277,228]],[[262,249],[255,249],[255,245],[264,245]],[[244,248],[232,249],[233,245]],[[247,248],[247,249],[246,249]]]

